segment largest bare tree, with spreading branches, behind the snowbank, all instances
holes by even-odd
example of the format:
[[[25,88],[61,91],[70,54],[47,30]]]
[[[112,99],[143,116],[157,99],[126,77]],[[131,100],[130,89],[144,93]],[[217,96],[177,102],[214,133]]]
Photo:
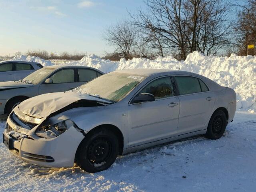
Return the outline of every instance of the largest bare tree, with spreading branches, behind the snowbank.
[[[232,22],[222,0],[147,0],[148,12],[131,15],[132,24],[160,39],[161,49],[186,59],[194,50],[216,54],[229,44]],[[159,38],[160,37],[160,38]]]

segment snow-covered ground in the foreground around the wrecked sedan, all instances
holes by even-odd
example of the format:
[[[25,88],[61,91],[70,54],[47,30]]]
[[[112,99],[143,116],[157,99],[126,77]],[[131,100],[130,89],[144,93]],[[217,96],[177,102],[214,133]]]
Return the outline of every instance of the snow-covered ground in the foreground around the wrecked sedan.
[[[0,132],[4,131],[4,120]],[[2,134],[0,135],[2,141]],[[253,192],[256,114],[236,112],[219,140],[186,138],[120,156],[103,172],[48,169],[14,157],[0,143],[0,191]]]

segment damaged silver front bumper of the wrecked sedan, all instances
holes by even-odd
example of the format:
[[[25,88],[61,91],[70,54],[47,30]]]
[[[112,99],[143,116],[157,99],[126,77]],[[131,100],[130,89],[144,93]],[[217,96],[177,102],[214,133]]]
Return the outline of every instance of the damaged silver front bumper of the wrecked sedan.
[[[6,133],[4,133],[6,134]],[[32,139],[28,136],[12,140],[15,156],[25,162],[43,167],[72,167],[76,150],[84,136],[73,126],[53,139]]]

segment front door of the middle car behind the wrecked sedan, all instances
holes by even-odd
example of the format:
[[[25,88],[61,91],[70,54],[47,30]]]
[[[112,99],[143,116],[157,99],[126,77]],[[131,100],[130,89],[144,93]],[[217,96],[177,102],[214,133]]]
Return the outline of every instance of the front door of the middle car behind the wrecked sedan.
[[[52,92],[64,92],[72,90],[77,87],[77,82],[75,81],[75,69],[65,68],[54,72],[51,76],[53,83],[44,84],[39,86],[39,94],[52,93]]]

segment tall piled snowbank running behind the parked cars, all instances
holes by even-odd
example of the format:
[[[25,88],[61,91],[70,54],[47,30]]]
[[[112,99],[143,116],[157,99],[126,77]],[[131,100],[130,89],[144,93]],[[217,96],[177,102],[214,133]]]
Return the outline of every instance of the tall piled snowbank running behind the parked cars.
[[[35,56],[16,56],[14,60],[40,62],[44,66],[52,63]],[[156,60],[145,58],[121,59],[118,62],[104,60],[92,54],[70,65],[82,65],[97,68],[103,72],[134,68],[163,68],[184,70],[206,76],[222,86],[236,91],[237,109],[256,113],[256,56],[230,57],[204,56],[200,52],[190,53],[185,61],[178,61],[172,56],[158,57]]]

